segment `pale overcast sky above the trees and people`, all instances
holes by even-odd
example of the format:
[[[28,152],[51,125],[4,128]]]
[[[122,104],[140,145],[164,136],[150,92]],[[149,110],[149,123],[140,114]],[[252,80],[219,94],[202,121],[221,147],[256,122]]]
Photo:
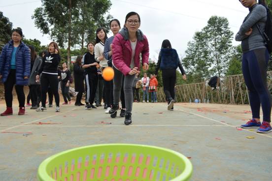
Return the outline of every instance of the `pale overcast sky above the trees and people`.
[[[238,0],[111,0],[109,13],[123,26],[128,12],[140,15],[140,29],[149,41],[150,58],[157,59],[162,41],[169,39],[172,48],[185,55],[187,43],[196,31],[207,25],[213,16],[229,20],[230,28],[236,34],[248,10]],[[21,27],[28,39],[38,39],[42,45],[50,43],[48,35],[42,35],[34,26],[31,16],[41,6],[40,0],[0,0],[0,11],[9,18],[13,27]],[[109,33],[108,37],[112,34]],[[233,40],[234,45],[239,42]]]

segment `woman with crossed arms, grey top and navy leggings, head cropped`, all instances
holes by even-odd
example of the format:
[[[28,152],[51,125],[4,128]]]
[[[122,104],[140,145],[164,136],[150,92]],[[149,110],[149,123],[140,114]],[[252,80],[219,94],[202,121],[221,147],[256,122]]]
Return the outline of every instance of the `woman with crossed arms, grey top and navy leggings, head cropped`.
[[[260,30],[264,31],[266,26],[267,10],[263,5],[257,4],[256,0],[239,1],[249,9],[235,39],[241,41],[243,78],[252,111],[252,119],[241,127],[259,128],[257,132],[268,133],[272,131],[270,125],[272,99],[267,85],[267,66],[270,54],[260,32]],[[259,2],[261,1],[259,0]],[[261,105],[263,110],[262,124],[260,121]]]

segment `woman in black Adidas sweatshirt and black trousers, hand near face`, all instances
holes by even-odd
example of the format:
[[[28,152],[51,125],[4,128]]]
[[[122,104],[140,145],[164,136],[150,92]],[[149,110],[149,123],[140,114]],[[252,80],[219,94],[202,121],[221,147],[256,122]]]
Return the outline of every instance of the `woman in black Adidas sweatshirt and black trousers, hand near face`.
[[[41,107],[36,111],[46,110],[46,93],[48,86],[55,97],[56,112],[60,112],[60,95],[59,95],[59,79],[58,65],[61,61],[59,55],[59,46],[56,42],[51,42],[48,46],[48,53],[43,57],[41,67],[36,76],[37,81],[40,81],[41,86]],[[41,74],[41,76],[39,76]]]

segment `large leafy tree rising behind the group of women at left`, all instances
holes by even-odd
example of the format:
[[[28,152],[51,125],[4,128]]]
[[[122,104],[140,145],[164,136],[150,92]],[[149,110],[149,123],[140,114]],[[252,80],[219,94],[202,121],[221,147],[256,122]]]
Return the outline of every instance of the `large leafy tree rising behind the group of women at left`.
[[[83,37],[82,34],[84,33],[85,38],[87,33],[95,33],[95,28],[90,28],[90,26],[96,27],[99,25],[98,21],[106,22],[102,20],[103,15],[111,6],[110,0],[41,1],[42,7],[36,8],[34,10],[34,15],[32,16],[35,26],[38,27],[43,34],[49,34],[53,40],[56,39],[60,47],[67,47],[69,67],[70,47],[80,43],[80,34],[81,37]],[[82,8],[84,10],[82,10]],[[89,19],[91,21],[89,21]],[[81,45],[83,45],[82,42]]]

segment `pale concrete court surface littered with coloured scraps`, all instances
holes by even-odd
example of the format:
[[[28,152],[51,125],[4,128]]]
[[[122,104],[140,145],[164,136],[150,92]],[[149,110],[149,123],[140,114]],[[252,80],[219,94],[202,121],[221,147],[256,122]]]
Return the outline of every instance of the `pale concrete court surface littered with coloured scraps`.
[[[1,104],[0,112],[4,109]],[[33,134],[0,133],[0,181],[37,181],[38,165],[50,155],[104,143],[180,152],[191,157],[191,181],[272,180],[272,132],[236,128],[250,118],[249,106],[176,103],[168,111],[166,103],[134,103],[131,126],[124,126],[124,118],[110,118],[102,107],[64,105],[60,113],[54,107],[38,113],[27,109],[25,116],[14,109],[14,115],[0,117],[0,132]]]

